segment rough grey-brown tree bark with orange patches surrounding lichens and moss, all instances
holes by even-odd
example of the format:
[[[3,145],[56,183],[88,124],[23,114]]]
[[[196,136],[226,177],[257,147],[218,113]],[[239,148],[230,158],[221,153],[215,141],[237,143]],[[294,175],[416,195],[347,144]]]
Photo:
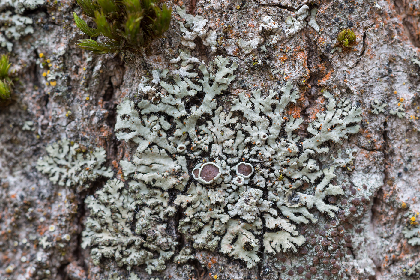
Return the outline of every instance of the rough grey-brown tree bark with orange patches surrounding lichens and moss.
[[[220,97],[228,104],[226,112],[229,97],[257,89],[267,96],[286,82],[300,96],[286,110],[304,118],[301,128],[324,110],[325,91],[362,109],[359,132],[341,146],[355,150],[353,165],[338,167],[332,182],[344,194],[328,200],[343,211],[335,218],[316,212],[317,223],[299,225],[306,242],[296,253],[267,254],[260,246],[260,261],[249,268],[218,249],[193,248],[177,230],[183,214],[176,206],[177,216],[167,230],[178,245],[165,270],[149,274],[145,266],[134,266],[129,272],[112,258],[95,265],[90,249],[81,247],[89,216],[85,199],[107,178],[59,186],[36,168],[48,145],[69,139],[88,151],[105,149],[103,166],[112,168],[115,178],[124,178],[119,162],[132,159],[136,145],[115,135],[117,105],[125,97],[138,100],[142,76],[176,69],[170,60],[186,49],[178,24],[185,21],[176,5],[203,16],[206,28],[217,34],[215,52],[197,37],[192,57],[208,65],[220,55],[239,65]],[[303,5],[309,7],[308,15],[301,27],[294,25],[296,32],[287,34],[284,23],[289,16],[298,18]],[[420,211],[420,62],[413,60],[420,55],[420,1],[174,0],[168,6],[173,20],[165,38],[144,50],[114,56],[75,46],[87,38],[73,21],[73,11],[81,14],[76,1],[1,1],[0,53],[10,52],[19,81],[13,102],[0,107],[0,279],[132,280],[133,273],[142,280],[420,279],[420,247],[403,233]],[[313,21],[307,24],[313,9],[318,9],[312,17],[319,29]],[[9,27],[3,26],[1,15],[10,18],[5,19]],[[32,22],[11,31],[18,26],[13,16]],[[277,30],[260,30],[265,16],[279,24]],[[337,42],[346,28],[357,38],[350,47]],[[257,44],[244,45],[256,38]],[[375,99],[387,104],[376,114]],[[330,144],[331,151],[318,158],[321,170],[340,148]],[[174,205],[174,198],[169,203]],[[174,261],[185,247],[191,256],[184,264]]]

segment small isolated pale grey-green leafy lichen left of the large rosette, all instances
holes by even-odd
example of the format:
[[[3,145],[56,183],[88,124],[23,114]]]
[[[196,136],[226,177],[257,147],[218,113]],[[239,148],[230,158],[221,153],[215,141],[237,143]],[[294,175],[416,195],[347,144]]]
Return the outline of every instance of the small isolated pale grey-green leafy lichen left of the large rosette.
[[[111,178],[114,173],[108,167],[102,167],[106,161],[103,148],[87,151],[79,144],[63,139],[46,148],[48,155],[37,161],[37,170],[47,174],[54,184],[76,187],[78,190],[99,176]]]

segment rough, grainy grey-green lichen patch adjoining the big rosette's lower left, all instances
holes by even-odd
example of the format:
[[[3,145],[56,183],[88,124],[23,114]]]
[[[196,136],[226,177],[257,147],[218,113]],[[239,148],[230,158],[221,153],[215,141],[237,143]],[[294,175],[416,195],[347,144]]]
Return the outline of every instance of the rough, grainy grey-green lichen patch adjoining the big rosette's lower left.
[[[82,247],[91,248],[96,265],[111,258],[127,270],[142,264],[149,273],[164,270],[178,244],[167,232],[165,217],[175,211],[168,207],[167,199],[168,193],[134,181],[126,188],[122,181],[109,180],[85,201],[90,215]]]

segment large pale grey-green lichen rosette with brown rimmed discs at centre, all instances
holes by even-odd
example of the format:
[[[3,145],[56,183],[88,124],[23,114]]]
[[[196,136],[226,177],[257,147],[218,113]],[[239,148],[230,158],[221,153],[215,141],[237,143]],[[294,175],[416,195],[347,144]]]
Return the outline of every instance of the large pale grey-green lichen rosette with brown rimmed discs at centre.
[[[179,190],[173,201],[184,214],[178,231],[196,249],[218,250],[248,267],[260,260],[260,246],[271,254],[297,251],[305,241],[297,224],[317,221],[313,207],[334,217],[338,207],[325,197],[344,194],[330,181],[346,159],[321,170],[317,156],[329,151],[327,143],[342,144],[358,132],[361,109],[325,92],[325,110],[308,124],[310,137],[300,139],[294,131],[304,120],[286,113],[299,98],[290,82],[266,93],[231,94],[236,62],[218,56],[193,72],[198,60],[186,51],[180,59],[170,75],[143,77],[140,99],[117,107],[116,135],[138,144],[134,162],[165,162],[166,170],[152,173],[131,163],[125,170],[148,178],[146,188]],[[222,102],[225,97],[231,101]],[[304,183],[312,188],[303,191]]]

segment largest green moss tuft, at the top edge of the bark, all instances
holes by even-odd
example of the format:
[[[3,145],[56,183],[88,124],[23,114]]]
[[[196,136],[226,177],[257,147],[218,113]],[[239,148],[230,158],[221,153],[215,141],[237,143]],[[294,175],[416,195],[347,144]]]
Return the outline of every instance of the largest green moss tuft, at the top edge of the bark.
[[[100,40],[83,39],[76,45],[97,54],[139,49],[161,37],[171,22],[171,9],[166,4],[159,8],[155,0],[77,0],[77,3],[97,27],[89,27],[73,13],[76,26],[91,38],[100,36]]]

